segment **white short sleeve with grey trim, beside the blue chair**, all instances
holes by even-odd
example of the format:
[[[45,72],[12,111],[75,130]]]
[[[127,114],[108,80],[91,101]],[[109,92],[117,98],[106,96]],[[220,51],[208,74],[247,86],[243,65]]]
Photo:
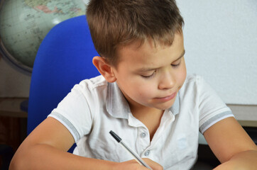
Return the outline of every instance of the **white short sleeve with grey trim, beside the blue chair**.
[[[91,130],[92,113],[94,113],[92,108],[94,108],[94,98],[86,81],[82,81],[72,88],[48,116],[65,125],[77,142]]]

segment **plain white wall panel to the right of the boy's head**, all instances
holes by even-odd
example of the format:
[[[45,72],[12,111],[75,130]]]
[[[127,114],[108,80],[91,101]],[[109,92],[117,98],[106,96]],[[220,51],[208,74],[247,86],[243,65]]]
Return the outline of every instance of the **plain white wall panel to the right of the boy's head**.
[[[185,60],[226,103],[257,104],[257,1],[177,0]]]

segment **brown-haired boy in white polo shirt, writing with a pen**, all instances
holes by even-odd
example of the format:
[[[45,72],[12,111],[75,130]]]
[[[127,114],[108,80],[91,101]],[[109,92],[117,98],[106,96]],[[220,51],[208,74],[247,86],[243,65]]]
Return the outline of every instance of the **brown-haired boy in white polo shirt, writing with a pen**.
[[[201,77],[186,77],[175,1],[92,0],[87,21],[102,76],[75,85],[23,142],[11,169],[146,169],[110,130],[152,169],[191,169],[199,130],[222,162],[217,169],[256,167],[256,145],[230,109]]]

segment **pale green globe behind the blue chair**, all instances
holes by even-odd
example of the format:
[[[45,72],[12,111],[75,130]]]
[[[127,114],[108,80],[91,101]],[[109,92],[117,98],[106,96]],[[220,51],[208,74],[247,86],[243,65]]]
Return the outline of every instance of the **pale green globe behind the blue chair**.
[[[48,31],[68,18],[85,13],[82,0],[2,0],[0,3],[0,52],[19,71],[28,74]]]

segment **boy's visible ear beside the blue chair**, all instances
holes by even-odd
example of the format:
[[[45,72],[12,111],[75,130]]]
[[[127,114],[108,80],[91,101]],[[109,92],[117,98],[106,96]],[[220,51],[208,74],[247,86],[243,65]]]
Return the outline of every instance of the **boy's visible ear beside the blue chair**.
[[[93,64],[97,67],[98,71],[109,83],[116,81],[113,69],[108,62],[103,57],[96,56],[93,58]]]

